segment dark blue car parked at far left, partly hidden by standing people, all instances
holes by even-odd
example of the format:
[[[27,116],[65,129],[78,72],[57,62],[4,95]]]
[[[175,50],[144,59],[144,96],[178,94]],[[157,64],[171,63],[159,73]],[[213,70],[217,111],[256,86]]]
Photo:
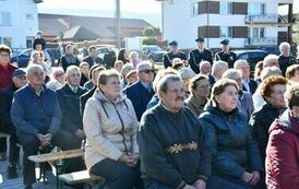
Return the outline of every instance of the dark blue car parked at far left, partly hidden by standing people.
[[[19,55],[13,56],[11,58],[11,62],[15,62],[19,68],[26,68],[28,64],[28,61],[31,60],[33,49],[28,48],[23,51],[21,51]],[[46,49],[46,51],[49,54],[51,58],[51,62],[55,62],[53,54],[51,50]]]

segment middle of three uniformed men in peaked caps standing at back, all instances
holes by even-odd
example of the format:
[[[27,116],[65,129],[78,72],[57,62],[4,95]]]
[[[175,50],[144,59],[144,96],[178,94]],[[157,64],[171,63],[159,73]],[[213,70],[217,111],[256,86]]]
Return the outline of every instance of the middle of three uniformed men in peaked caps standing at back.
[[[200,64],[203,60],[213,64],[212,52],[204,48],[204,38],[199,37],[195,39],[198,48],[189,52],[189,64],[191,69],[198,74],[200,73]]]

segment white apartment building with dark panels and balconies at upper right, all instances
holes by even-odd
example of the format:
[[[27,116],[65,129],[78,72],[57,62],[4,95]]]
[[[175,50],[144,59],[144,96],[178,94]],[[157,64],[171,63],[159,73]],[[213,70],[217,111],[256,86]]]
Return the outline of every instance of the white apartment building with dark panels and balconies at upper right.
[[[163,4],[164,38],[178,40],[180,48],[195,46],[205,38],[208,48],[218,48],[223,38],[235,48],[277,46],[291,40],[291,16],[278,14],[292,0],[159,0]]]

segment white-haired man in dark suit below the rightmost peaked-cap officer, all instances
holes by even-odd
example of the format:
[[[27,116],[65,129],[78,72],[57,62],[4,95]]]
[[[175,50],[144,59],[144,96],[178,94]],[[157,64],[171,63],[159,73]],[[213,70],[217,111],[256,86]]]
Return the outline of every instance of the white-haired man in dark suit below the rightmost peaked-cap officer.
[[[234,69],[240,70],[242,76],[242,90],[253,95],[253,93],[258,88],[258,83],[254,80],[250,79],[250,66],[248,61],[242,59],[237,60],[234,63]]]

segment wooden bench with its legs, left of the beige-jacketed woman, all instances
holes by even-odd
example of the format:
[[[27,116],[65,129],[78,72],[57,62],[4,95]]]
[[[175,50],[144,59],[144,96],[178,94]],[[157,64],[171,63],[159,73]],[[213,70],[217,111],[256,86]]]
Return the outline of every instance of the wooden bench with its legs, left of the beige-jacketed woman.
[[[60,151],[60,152],[50,152],[46,154],[31,155],[28,156],[28,160],[39,164],[48,162],[51,166],[53,166],[56,168],[56,188],[60,188],[61,185],[59,182],[58,176],[64,172],[64,166],[63,164],[61,165],[59,162],[65,158],[74,158],[83,155],[84,155],[84,150],[76,149],[76,150],[68,150],[68,151]],[[41,177],[45,180],[45,169],[43,169],[43,174],[41,172],[39,174],[39,179]]]

